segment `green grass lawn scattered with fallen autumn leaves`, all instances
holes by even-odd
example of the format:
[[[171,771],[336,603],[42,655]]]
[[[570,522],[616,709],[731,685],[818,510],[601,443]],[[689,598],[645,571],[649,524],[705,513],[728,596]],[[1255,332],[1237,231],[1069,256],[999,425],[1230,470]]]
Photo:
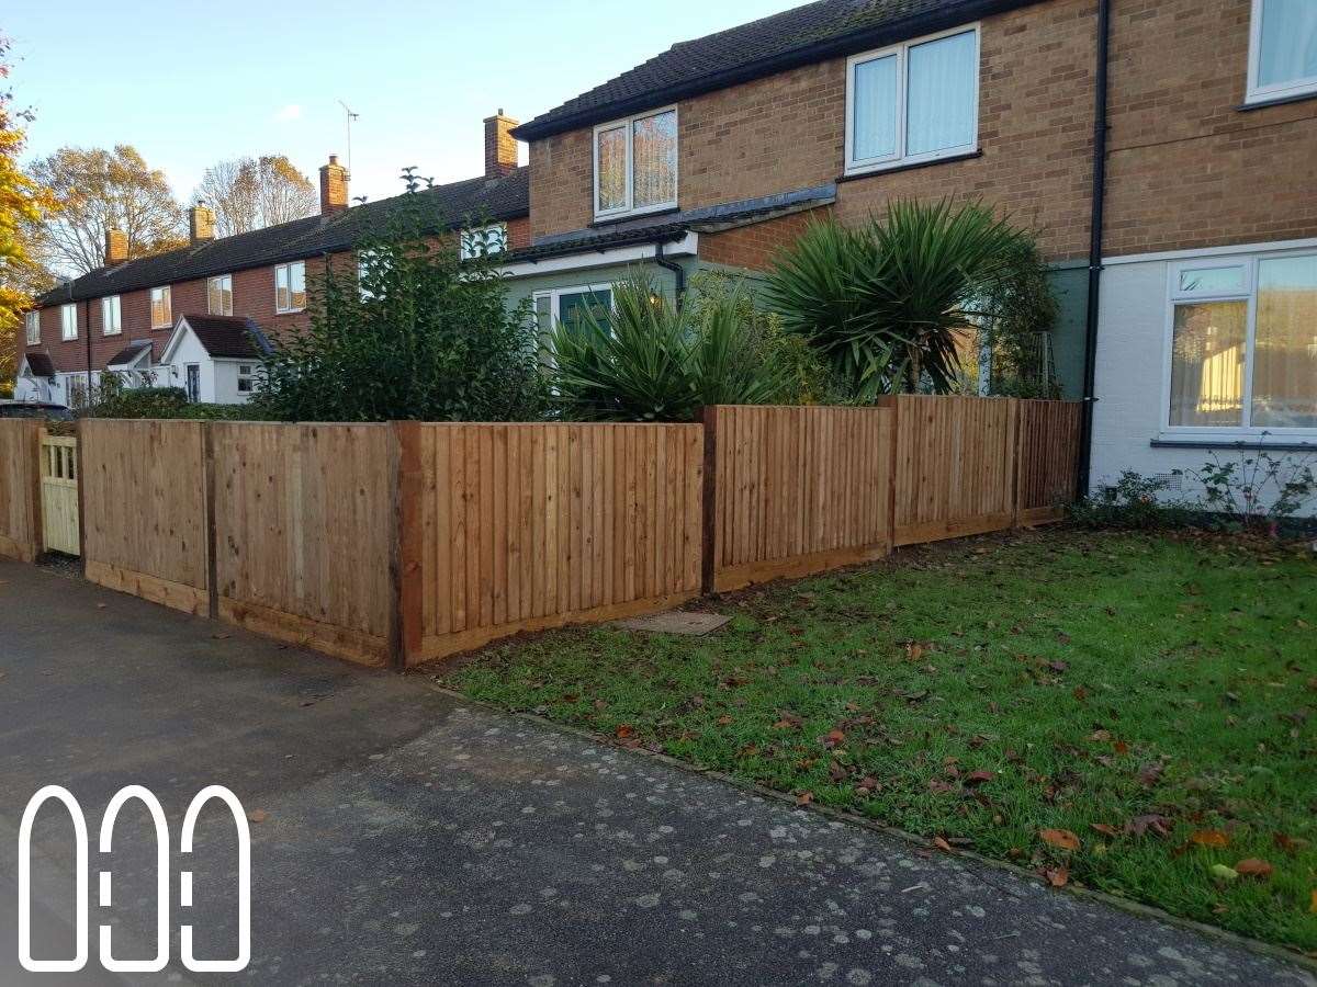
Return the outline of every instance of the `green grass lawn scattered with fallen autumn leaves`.
[[[707,638],[564,630],[444,682],[1317,950],[1306,546],[1026,533],[716,608]]]

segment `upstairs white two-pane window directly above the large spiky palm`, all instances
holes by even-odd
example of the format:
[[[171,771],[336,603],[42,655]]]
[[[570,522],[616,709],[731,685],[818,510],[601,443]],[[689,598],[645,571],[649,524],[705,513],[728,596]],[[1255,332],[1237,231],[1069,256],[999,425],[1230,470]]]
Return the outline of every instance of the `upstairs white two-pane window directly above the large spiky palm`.
[[[979,150],[979,25],[852,55],[846,174]]]

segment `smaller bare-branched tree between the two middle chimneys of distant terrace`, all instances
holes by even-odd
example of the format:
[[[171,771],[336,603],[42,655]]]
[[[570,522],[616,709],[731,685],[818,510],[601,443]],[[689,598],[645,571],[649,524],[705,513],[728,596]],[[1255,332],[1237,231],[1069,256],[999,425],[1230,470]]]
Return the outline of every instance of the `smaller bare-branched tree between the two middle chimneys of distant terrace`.
[[[215,209],[221,237],[313,216],[316,187],[283,154],[233,158],[205,170],[194,193]]]

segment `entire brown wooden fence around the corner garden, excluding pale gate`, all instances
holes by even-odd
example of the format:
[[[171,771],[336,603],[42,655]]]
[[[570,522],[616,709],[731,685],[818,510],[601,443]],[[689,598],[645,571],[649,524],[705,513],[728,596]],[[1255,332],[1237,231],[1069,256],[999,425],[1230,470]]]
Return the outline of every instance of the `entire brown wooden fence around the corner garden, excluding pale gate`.
[[[1038,524],[1079,408],[888,399],[703,425],[80,424],[90,579],[403,669]],[[36,422],[0,421],[0,554],[41,550]]]

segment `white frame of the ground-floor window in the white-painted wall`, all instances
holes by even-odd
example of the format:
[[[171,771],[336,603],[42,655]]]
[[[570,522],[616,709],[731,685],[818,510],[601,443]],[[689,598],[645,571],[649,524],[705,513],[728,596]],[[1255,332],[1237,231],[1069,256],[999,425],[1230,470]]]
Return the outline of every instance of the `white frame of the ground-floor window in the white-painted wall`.
[[[1160,438],[1196,438],[1206,442],[1256,442],[1263,436],[1279,441],[1295,441],[1317,437],[1317,428],[1285,428],[1281,425],[1255,426],[1252,424],[1252,376],[1254,353],[1258,338],[1258,271],[1264,261],[1285,258],[1317,258],[1317,247],[1288,250],[1259,250],[1241,254],[1204,254],[1171,261],[1167,263],[1166,315],[1163,320],[1162,357],[1162,408],[1158,415]],[[1245,286],[1237,291],[1184,291],[1180,288],[1180,275],[1185,270],[1214,267],[1243,267]],[[1247,322],[1245,326],[1245,365],[1241,387],[1241,424],[1222,425],[1172,425],[1171,424],[1171,370],[1175,361],[1175,309],[1177,305],[1245,301],[1247,303]]]

